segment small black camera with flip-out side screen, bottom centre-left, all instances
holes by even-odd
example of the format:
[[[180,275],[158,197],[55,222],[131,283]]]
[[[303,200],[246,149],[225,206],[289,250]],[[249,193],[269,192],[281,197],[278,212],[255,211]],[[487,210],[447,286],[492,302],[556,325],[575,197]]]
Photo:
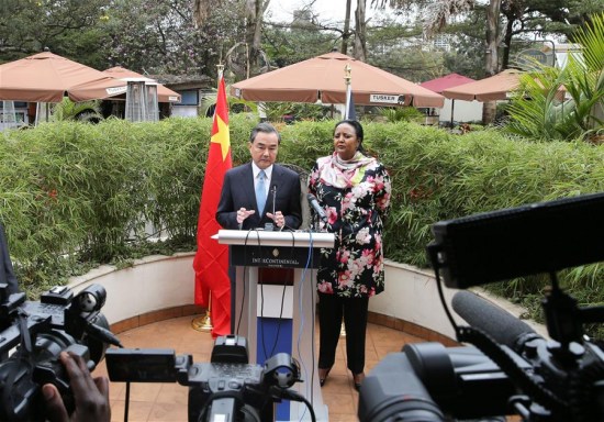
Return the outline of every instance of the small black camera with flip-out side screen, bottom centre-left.
[[[172,349],[110,348],[105,356],[114,382],[178,382],[189,387],[189,421],[271,421],[272,404],[282,399],[306,403],[289,389],[300,381],[300,365],[278,353],[265,365],[248,364],[247,342],[237,335],[220,336],[210,363],[193,364],[191,355]],[[127,398],[126,398],[127,400]]]

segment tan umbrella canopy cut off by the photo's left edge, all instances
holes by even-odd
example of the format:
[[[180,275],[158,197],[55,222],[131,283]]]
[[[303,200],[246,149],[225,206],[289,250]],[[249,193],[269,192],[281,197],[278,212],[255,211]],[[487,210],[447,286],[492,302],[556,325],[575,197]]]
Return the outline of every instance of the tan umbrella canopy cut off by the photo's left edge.
[[[60,102],[105,98],[125,86],[91,67],[45,52],[0,65],[0,100]]]

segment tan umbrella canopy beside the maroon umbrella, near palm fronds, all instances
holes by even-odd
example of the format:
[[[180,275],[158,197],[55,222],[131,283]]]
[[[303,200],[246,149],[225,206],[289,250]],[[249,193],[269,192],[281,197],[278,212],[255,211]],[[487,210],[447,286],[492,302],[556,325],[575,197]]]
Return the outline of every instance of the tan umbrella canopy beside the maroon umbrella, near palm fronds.
[[[466,101],[496,101],[507,99],[507,93],[518,88],[521,70],[506,69],[489,78],[463,84],[443,91],[446,98]]]

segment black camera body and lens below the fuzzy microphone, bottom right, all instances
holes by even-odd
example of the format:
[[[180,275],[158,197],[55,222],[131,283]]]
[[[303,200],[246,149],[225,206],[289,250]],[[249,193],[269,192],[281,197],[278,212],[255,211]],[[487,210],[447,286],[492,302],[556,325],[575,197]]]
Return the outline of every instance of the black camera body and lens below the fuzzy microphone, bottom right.
[[[556,344],[544,338],[527,342],[519,354],[506,346],[486,354],[473,346],[407,344],[365,379],[359,420],[505,421],[516,414],[523,421],[603,421],[604,354],[594,344],[575,352],[573,359],[556,356]]]

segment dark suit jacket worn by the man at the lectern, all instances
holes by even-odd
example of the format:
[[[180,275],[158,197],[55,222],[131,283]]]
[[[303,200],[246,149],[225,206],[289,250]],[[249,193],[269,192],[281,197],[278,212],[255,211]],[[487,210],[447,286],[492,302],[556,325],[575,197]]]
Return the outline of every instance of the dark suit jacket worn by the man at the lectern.
[[[273,188],[276,189],[275,207]],[[302,223],[300,192],[300,176],[289,168],[275,164],[265,210],[258,212],[251,163],[244,164],[230,169],[224,175],[221,200],[216,210],[216,221],[224,229],[239,229],[237,210],[243,207],[246,210],[256,210],[254,214],[244,220],[243,230],[264,227],[265,223],[272,223],[272,220],[266,216],[266,213],[272,213],[272,210],[281,211],[286,216],[284,229],[298,229]]]

